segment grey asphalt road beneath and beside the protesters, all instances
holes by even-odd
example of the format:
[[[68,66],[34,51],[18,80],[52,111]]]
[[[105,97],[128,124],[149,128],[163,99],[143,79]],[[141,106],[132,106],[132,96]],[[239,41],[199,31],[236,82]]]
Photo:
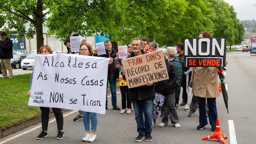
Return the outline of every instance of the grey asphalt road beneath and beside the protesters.
[[[225,84],[228,85],[229,95],[229,114],[227,114],[222,94],[216,99],[218,118],[220,119],[221,131],[229,138],[226,143],[230,144],[230,131],[228,120],[234,121],[236,140],[239,144],[255,143],[255,86],[256,86],[256,56],[248,55],[247,52],[227,53],[227,71]],[[143,140],[134,142],[136,138],[136,121],[134,111],[131,114],[120,114],[120,111],[111,109],[111,98],[109,100],[109,109],[106,114],[98,114],[97,138],[93,143],[179,143],[179,144],[218,144],[216,139],[202,141],[201,138],[212,134],[211,126],[208,124],[206,129],[197,130],[199,125],[198,113],[193,117],[188,117],[188,112],[183,111],[183,106],[177,110],[181,128],[177,129],[173,125],[158,127],[161,122],[160,116],[157,118],[156,127],[152,131],[152,142]],[[182,99],[180,99],[181,101]],[[118,93],[118,106],[121,106],[121,95]],[[67,112],[70,113],[71,111]],[[64,113],[67,114],[67,113]],[[48,126],[48,137],[42,140],[36,140],[41,128],[29,131],[27,134],[14,138],[6,144],[55,144],[55,143],[85,143],[82,138],[85,134],[83,121],[74,122],[73,118],[78,114],[74,112],[64,118],[64,138],[56,140],[56,122]],[[51,120],[53,120],[52,118]],[[169,120],[170,124],[170,120]],[[17,136],[29,129],[35,128],[41,124],[29,127],[16,134],[0,139],[0,143],[8,138]],[[233,142],[232,142],[233,143]]]

